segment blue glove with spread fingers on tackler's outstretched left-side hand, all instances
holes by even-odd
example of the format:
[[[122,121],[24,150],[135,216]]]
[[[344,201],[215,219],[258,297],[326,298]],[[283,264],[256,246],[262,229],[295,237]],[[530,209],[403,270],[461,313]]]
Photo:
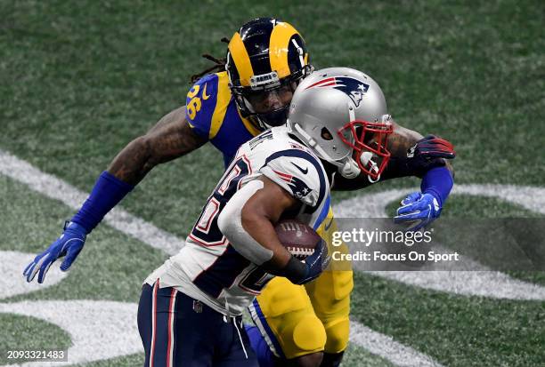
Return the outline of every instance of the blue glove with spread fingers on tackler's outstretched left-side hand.
[[[32,282],[39,270],[38,283],[44,283],[45,274],[56,259],[66,256],[66,259],[62,261],[61,270],[67,271],[77,258],[85,244],[87,231],[76,222],[67,222],[67,224],[64,226],[62,235],[25,268],[23,275],[27,277],[27,282]]]

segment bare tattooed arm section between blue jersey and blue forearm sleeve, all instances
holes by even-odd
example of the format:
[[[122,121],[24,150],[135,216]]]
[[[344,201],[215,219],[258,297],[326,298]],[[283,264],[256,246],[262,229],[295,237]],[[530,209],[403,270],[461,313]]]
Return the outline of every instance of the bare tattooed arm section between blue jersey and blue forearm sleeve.
[[[190,153],[205,142],[192,131],[185,118],[185,107],[177,108],[123,148],[108,171],[119,180],[136,185],[156,165]]]

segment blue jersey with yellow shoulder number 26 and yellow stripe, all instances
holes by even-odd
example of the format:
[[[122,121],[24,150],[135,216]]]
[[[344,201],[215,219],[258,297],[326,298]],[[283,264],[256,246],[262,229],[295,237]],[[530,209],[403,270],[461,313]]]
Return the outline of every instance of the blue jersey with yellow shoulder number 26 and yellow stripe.
[[[185,115],[193,131],[224,155],[225,167],[237,149],[260,133],[239,108],[229,89],[227,72],[203,76],[187,93]]]

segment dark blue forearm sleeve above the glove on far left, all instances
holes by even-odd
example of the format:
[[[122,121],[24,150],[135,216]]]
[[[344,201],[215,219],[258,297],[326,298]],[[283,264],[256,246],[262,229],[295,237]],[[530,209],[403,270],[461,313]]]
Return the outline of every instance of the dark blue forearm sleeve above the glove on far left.
[[[102,172],[94,184],[91,195],[87,197],[87,200],[71,221],[84,227],[87,233],[91,233],[102,218],[133,188],[133,185],[119,180],[110,172]]]

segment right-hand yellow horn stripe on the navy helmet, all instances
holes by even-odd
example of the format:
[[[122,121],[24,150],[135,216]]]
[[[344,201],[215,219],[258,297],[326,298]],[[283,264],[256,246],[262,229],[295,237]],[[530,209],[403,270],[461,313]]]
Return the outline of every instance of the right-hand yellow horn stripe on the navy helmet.
[[[277,23],[273,28],[269,44],[269,60],[271,60],[271,70],[276,70],[279,78],[290,74],[288,65],[289,40],[298,34],[297,29],[290,26],[289,23]]]

